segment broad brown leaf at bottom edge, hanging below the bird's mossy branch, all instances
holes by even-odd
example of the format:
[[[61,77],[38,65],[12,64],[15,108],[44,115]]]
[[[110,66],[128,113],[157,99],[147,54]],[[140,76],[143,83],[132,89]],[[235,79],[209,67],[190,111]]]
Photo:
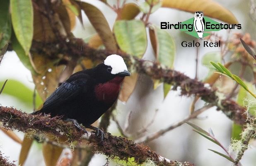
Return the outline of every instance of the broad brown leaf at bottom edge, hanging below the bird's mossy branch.
[[[63,148],[52,144],[43,144],[43,158],[46,166],[56,166]]]

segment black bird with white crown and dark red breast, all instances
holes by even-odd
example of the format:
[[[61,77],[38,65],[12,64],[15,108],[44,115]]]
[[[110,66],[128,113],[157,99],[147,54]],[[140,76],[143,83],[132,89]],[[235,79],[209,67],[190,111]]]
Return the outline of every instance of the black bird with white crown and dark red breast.
[[[130,75],[121,56],[109,55],[96,67],[72,74],[32,114],[60,116],[86,133],[85,128],[93,129],[103,140],[104,132],[92,123],[114,104],[123,79]]]

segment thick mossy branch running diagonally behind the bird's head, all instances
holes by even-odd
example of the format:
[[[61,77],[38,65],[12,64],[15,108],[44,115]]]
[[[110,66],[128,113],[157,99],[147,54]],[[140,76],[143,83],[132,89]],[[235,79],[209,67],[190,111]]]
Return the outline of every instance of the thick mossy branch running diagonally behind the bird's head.
[[[63,44],[63,41],[68,41]],[[173,85],[173,90],[180,89],[181,95],[191,96],[197,95],[207,103],[212,103],[217,106],[217,110],[222,110],[230,119],[237,124],[245,124],[246,108],[239,106],[235,101],[227,99],[225,96],[216,92],[216,89],[210,87],[208,84],[191,79],[181,72],[171,70],[168,67],[160,65],[157,62],[149,60],[142,60],[135,56],[128,55],[121,51],[111,52],[107,50],[96,50],[91,48],[80,38],[63,38],[62,42],[55,43],[41,43],[33,41],[31,50],[48,58],[56,59],[56,55],[69,55],[72,58],[86,57],[96,62],[102,62],[107,55],[118,54],[121,55],[126,64],[129,66],[131,72],[138,72],[145,74],[152,79],[159,79],[162,82]],[[68,64],[67,60],[60,60],[59,64]]]

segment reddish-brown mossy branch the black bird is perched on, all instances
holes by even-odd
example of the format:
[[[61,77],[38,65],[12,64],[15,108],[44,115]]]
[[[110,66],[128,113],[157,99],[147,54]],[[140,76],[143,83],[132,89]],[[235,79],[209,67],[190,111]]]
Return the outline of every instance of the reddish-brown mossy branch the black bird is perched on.
[[[110,133],[105,133],[103,142],[94,134],[84,135],[77,131],[70,122],[61,120],[60,117],[51,118],[49,115],[31,115],[15,108],[0,106],[0,122],[2,127],[8,130],[19,130],[31,137],[33,135],[51,135],[56,137],[66,137],[67,142],[80,141],[86,139],[93,146],[94,152],[105,154],[110,158],[118,158],[128,161],[134,158],[137,164],[144,163],[147,159],[154,161],[158,166],[194,166],[189,162],[180,163],[170,161],[159,156],[149,147],[143,144],[135,144],[131,140],[123,137],[116,137]]]

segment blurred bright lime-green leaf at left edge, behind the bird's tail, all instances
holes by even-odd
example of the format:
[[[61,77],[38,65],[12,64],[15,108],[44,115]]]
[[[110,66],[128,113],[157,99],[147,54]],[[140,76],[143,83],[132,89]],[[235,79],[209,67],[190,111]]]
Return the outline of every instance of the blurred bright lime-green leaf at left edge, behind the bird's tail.
[[[2,85],[4,84],[4,82],[1,81],[0,84]],[[26,87],[24,84],[13,79],[8,79],[8,82],[6,83],[5,88],[2,91],[2,94],[8,94],[10,96],[14,96],[20,101],[22,101],[22,103],[26,103],[28,106],[31,106],[31,107],[33,105],[32,104],[33,93],[34,92],[28,87]],[[38,107],[41,104],[42,104],[42,100],[39,97],[39,95],[36,94],[36,106]]]

